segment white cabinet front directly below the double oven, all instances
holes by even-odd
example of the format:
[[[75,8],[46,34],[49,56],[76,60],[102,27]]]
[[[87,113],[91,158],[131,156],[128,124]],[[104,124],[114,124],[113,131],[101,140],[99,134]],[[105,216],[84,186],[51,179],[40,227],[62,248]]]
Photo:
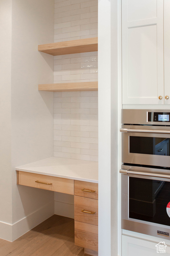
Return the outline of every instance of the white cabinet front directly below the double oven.
[[[165,250],[163,252],[163,250]],[[160,242],[152,242],[144,239],[122,235],[122,256],[159,256],[169,255],[170,247],[166,245],[163,237]]]

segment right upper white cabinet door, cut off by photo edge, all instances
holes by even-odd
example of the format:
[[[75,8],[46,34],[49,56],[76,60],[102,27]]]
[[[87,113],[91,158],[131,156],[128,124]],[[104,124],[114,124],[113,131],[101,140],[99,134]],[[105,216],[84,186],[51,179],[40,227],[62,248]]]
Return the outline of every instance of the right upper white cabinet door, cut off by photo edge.
[[[164,98],[170,104],[170,1],[164,0]]]

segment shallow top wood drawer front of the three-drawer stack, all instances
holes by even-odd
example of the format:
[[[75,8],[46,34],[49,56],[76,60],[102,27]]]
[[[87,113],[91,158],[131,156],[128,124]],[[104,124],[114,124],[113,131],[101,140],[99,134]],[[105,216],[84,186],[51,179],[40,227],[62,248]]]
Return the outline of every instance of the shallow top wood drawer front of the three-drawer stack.
[[[89,191],[94,191],[94,190],[96,190],[96,191],[95,192],[86,192],[86,191],[82,191],[83,188],[85,190],[89,190]],[[92,183],[92,182],[75,180],[74,181],[74,195],[98,199],[98,184]]]

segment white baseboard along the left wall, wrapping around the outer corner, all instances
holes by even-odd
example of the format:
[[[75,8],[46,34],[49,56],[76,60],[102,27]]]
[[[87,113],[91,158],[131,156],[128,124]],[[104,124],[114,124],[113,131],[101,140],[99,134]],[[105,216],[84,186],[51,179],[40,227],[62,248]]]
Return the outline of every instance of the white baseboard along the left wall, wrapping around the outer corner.
[[[52,215],[54,215],[54,201],[14,224],[0,222],[0,238],[13,242]]]

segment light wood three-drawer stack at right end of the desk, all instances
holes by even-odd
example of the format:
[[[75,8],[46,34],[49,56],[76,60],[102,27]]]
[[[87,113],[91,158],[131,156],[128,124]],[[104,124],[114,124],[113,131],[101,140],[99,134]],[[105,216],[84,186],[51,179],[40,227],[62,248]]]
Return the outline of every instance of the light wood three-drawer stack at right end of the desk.
[[[98,251],[98,184],[74,181],[75,244]],[[93,252],[92,252],[93,251]],[[92,254],[93,253],[93,254]]]

